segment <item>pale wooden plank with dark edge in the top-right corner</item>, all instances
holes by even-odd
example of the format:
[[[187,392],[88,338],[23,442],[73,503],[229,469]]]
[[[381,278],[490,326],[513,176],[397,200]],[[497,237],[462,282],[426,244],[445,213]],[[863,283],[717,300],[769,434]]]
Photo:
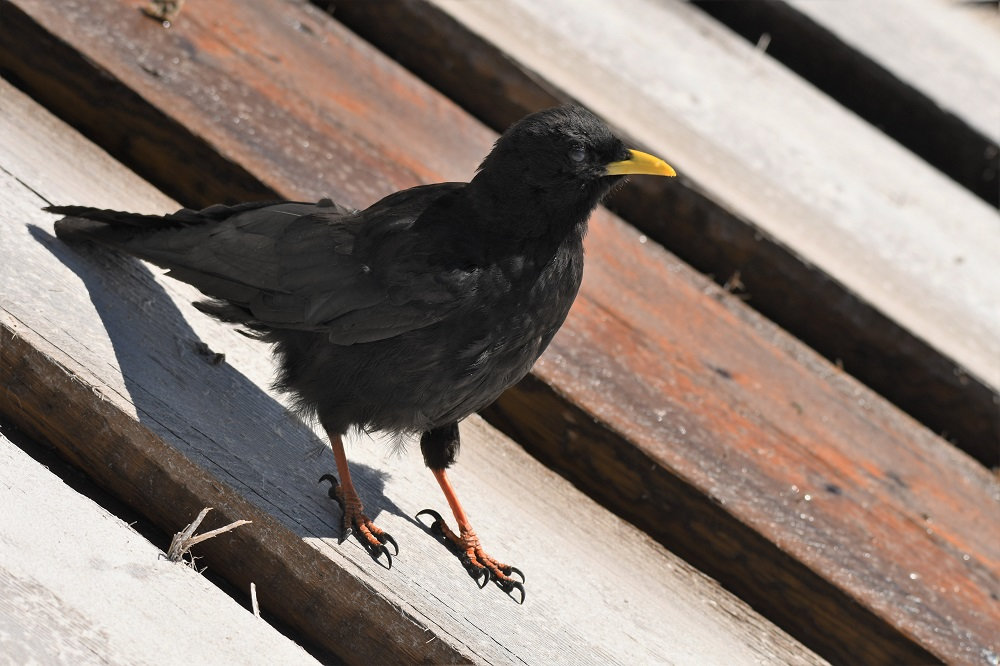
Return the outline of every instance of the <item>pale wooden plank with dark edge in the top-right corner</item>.
[[[989,100],[1000,90],[1000,41],[970,3],[696,4],[1000,206],[1000,118]]]

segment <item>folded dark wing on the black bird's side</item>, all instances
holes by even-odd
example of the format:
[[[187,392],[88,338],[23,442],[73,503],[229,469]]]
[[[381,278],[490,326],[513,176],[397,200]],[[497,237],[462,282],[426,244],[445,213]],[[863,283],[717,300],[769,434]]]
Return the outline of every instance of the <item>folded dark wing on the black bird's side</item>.
[[[432,268],[409,233],[450,191],[452,184],[413,188],[349,213],[256,207],[129,249],[222,301],[200,305],[220,318],[321,332],[335,344],[369,342],[431,325],[468,293],[467,273]],[[355,251],[359,234],[367,252]]]

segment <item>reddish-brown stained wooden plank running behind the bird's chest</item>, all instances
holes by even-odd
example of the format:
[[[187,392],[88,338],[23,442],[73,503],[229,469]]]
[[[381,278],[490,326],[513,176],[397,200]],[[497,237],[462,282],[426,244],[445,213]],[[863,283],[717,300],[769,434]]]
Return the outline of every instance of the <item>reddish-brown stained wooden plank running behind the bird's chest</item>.
[[[213,94],[232,108],[253,99],[267,114],[251,118],[252,133],[218,128],[206,140],[245,151],[242,167],[282,182],[288,196],[339,196],[358,183],[319,178],[308,161],[285,173],[286,153],[247,150],[261,133],[319,137],[321,151],[364,146],[362,162],[371,147],[384,148],[394,166],[382,178],[399,177],[400,164],[434,179],[461,164],[471,172],[494,138],[297,4],[199,5],[183,32],[148,35],[148,23],[107,4],[70,17],[44,3],[19,6],[64,39],[108,30],[77,47],[175,117],[211,111]],[[254,36],[239,57],[214,55],[234,43],[220,25]],[[142,41],[147,59],[166,57],[157,49],[180,49],[156,47],[166,39],[198,45],[183,81],[131,68],[130,44]],[[280,66],[268,57],[275,53]],[[355,109],[395,115],[374,120]],[[190,122],[212,130],[204,118]],[[400,126],[388,136],[380,123]],[[464,137],[457,145],[456,136]],[[595,217],[588,249],[580,305],[536,375],[547,393],[529,394],[529,382],[511,394],[525,397],[514,422],[541,435],[525,444],[826,654],[913,662],[990,649],[995,479],[606,213]],[[636,460],[646,466],[629,466]],[[803,510],[818,498],[823,511]],[[947,594],[955,588],[961,597]]]

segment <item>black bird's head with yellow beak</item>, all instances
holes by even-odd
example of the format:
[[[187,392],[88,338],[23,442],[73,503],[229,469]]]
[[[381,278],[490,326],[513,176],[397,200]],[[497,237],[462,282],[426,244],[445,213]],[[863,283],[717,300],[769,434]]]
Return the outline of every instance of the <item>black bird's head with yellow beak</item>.
[[[512,223],[537,227],[541,221],[546,226],[585,221],[629,174],[676,175],[663,160],[626,148],[587,109],[560,106],[511,125],[483,160],[472,185],[489,197],[493,210],[504,210]],[[518,222],[513,221],[515,216]]]

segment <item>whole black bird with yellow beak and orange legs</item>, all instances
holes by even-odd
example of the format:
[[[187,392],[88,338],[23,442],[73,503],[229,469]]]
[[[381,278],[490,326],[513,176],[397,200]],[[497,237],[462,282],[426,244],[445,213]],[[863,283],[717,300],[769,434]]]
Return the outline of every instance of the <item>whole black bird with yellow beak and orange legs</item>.
[[[562,325],[583,274],[587,219],[626,174],[673,176],[629,150],[594,114],[531,114],[497,140],[469,183],[391,194],[365,210],[271,202],[165,216],[81,206],[47,210],[66,241],[109,245],[169,269],[211,300],[195,305],[274,345],[277,388],[318,417],[340,483],[345,535],[373,557],[395,540],[364,514],[341,435],[420,434],[458,523],[432,529],[485,585],[520,571],[487,555],[445,470],[458,422],[524,377]],[[419,516],[420,514],[418,514]]]

